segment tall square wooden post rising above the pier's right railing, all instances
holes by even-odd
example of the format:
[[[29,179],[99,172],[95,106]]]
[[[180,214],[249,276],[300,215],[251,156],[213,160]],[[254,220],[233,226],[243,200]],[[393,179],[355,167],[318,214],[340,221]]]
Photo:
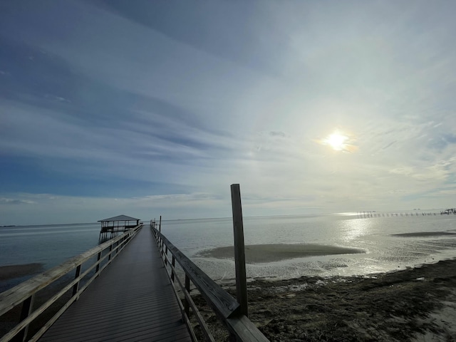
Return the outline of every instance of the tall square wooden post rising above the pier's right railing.
[[[242,223],[241,191],[239,184],[231,185],[234,229],[234,264],[236,265],[236,294],[242,314],[249,316],[247,306],[247,276],[245,271],[244,224]]]

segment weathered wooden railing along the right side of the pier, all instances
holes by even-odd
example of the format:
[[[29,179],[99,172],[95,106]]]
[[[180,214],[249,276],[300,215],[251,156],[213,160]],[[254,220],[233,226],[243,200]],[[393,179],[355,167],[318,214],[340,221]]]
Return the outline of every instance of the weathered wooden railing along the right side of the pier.
[[[175,295],[179,301],[180,308],[182,311],[182,319],[187,323],[189,328],[190,324],[190,312],[195,315],[199,326],[202,328],[204,338],[206,341],[214,341],[212,333],[210,333],[204,318],[197,309],[195,302],[190,296],[190,281],[199,291],[202,297],[205,299],[207,304],[217,314],[218,318],[229,331],[232,341],[269,341],[266,336],[259,331],[252,321],[244,315],[242,307],[239,305],[236,299],[234,299],[227,291],[224,291],[219,284],[212,280],[207,274],[199,269],[185,254],[182,254],[177,247],[175,247],[159,230],[156,228],[155,222],[150,222],[150,228],[155,236],[160,253],[162,254],[167,274],[170,277],[173,284],[177,284],[178,288],[182,291],[185,296],[185,300],[182,303],[180,296],[177,293],[176,286],[173,286]],[[171,259],[168,254],[171,254]],[[185,284],[176,275],[176,261],[185,273]],[[190,311],[190,308],[192,311]],[[190,328],[192,338],[197,341],[195,333]]]

